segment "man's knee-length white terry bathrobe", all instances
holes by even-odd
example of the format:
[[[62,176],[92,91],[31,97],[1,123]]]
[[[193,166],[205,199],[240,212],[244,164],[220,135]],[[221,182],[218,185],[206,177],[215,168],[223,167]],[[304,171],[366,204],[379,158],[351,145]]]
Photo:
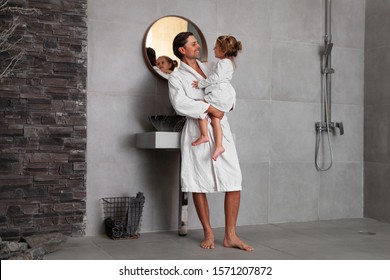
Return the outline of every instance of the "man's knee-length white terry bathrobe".
[[[206,76],[210,65],[197,61]],[[204,91],[192,87],[194,80],[204,79],[193,68],[180,63],[169,77],[169,97],[179,115],[187,117],[181,135],[181,187],[183,192],[227,192],[241,190],[241,169],[236,147],[226,115],[221,120],[225,152],[216,161],[212,159],[215,149],[213,129],[209,122],[210,142],[192,146],[199,135],[198,119],[208,118],[205,111],[209,104],[203,102]]]

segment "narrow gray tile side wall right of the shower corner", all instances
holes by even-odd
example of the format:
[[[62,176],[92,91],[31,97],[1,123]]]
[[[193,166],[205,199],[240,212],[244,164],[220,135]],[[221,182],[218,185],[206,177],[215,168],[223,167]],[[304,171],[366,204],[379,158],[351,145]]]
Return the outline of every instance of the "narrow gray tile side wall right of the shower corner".
[[[366,0],[364,215],[390,222],[390,1]]]

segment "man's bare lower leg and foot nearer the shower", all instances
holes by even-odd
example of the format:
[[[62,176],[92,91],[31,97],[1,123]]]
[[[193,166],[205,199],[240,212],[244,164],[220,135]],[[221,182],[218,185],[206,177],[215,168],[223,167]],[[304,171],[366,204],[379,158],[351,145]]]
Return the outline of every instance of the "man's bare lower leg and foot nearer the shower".
[[[240,196],[240,191],[226,192],[225,194],[225,238],[223,240],[223,246],[253,251],[253,248],[245,244],[236,234]]]

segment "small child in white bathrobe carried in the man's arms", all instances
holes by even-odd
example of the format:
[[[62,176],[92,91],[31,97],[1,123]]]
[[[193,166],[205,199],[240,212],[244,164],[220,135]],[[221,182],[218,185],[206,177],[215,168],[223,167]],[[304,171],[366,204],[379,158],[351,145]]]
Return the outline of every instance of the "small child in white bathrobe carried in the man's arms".
[[[225,113],[233,110],[236,103],[236,91],[230,84],[230,80],[233,78],[234,58],[241,50],[241,42],[233,36],[219,36],[214,47],[215,57],[219,61],[216,63],[213,72],[207,79],[194,81],[192,84],[194,88],[205,88],[204,101]],[[215,150],[212,157],[213,160],[217,160],[225,151],[222,145],[223,132],[220,119],[213,116],[210,116],[210,119],[215,139]],[[192,142],[193,146],[209,142],[207,122],[207,118],[199,119],[200,136]]]

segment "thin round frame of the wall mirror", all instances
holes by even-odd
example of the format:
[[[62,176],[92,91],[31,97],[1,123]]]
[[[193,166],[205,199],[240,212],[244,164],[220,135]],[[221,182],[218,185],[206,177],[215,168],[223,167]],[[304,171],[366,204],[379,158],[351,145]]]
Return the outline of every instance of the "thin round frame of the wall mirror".
[[[207,61],[207,53],[208,53],[206,39],[204,38],[202,31],[199,29],[199,27],[198,27],[194,22],[192,22],[191,20],[189,20],[189,19],[187,19],[187,18],[185,18],[185,17],[177,16],[177,15],[167,15],[167,16],[163,16],[163,17],[158,18],[157,20],[153,21],[153,23],[148,27],[148,29],[147,29],[146,32],[145,32],[144,38],[143,38],[143,40],[142,40],[142,54],[143,54],[145,63],[146,63],[146,65],[147,65],[147,67],[149,68],[149,70],[152,71],[152,73],[153,73],[155,76],[157,76],[157,77],[159,77],[159,78],[161,78],[161,79],[163,79],[163,80],[167,80],[167,78],[161,76],[161,75],[153,68],[152,64],[151,64],[150,61],[149,61],[148,55],[147,55],[147,53],[146,53],[146,39],[147,39],[148,34],[149,34],[149,31],[150,31],[150,29],[153,27],[153,25],[154,25],[157,21],[159,21],[159,20],[161,20],[161,19],[163,19],[163,18],[167,18],[167,17],[177,17],[177,18],[181,18],[181,19],[183,19],[183,20],[186,20],[188,23],[192,24],[192,26],[195,28],[196,32],[198,32],[199,39],[200,39],[199,44],[200,44],[200,46],[201,46],[201,48],[202,48],[202,57],[200,58],[200,60],[201,60],[201,61]],[[175,58],[176,58],[177,60],[179,60],[178,57],[175,57]]]

